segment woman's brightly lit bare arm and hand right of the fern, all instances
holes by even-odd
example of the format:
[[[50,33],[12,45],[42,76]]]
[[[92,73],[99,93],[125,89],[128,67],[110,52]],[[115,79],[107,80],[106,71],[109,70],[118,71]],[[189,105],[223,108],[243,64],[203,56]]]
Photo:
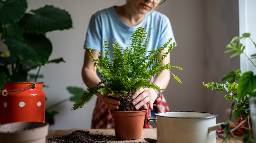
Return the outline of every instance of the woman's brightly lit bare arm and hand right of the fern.
[[[168,48],[165,48],[160,55],[163,55],[168,51]],[[162,60],[162,63],[160,65],[165,65],[167,63],[170,63],[170,53]],[[165,89],[170,81],[170,71],[169,70],[163,70],[161,73],[155,78],[154,83],[159,86],[162,89]],[[133,104],[137,104],[135,106],[136,109],[139,109],[144,104],[149,104],[149,109],[153,109],[153,103],[158,97],[158,93],[153,88],[140,88],[138,89],[134,96],[133,96]]]

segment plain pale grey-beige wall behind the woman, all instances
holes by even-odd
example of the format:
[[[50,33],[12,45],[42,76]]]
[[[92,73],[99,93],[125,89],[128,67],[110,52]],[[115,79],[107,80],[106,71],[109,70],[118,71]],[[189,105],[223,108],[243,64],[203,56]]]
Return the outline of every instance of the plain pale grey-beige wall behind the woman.
[[[68,86],[83,83],[83,44],[90,17],[96,11],[113,5],[122,5],[126,0],[28,0],[29,8],[45,4],[66,9],[72,16],[73,28],[53,31],[47,37],[53,43],[50,59],[63,57],[66,63],[46,65],[41,69],[44,78],[40,81],[48,88],[46,106],[69,97]],[[172,111],[207,111],[226,119],[225,109],[230,107],[221,93],[211,91],[203,82],[221,82],[230,70],[239,68],[239,59],[229,59],[224,54],[225,45],[238,35],[237,0],[167,0],[159,7],[171,21],[178,46],[172,50],[171,65],[181,66],[183,71],[173,71],[183,84],[171,80],[164,91]],[[235,60],[235,62],[234,62]],[[238,62],[236,62],[238,61]],[[95,97],[82,109],[71,111],[73,103],[59,105],[55,110],[56,123],[50,129],[90,128]]]

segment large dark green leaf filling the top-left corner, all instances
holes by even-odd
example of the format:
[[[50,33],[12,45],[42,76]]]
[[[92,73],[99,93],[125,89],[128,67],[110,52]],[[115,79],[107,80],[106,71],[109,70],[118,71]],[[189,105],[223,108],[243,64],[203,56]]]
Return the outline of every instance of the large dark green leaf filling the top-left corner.
[[[19,21],[27,10],[28,3],[26,0],[0,0],[0,23],[9,25]]]

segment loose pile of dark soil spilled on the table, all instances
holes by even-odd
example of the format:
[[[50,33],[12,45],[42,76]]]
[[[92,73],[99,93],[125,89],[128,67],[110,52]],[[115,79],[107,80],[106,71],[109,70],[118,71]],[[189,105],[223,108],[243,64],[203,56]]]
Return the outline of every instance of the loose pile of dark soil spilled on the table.
[[[69,135],[46,137],[46,143],[111,143],[121,141],[116,136],[92,134],[89,131],[76,130]]]

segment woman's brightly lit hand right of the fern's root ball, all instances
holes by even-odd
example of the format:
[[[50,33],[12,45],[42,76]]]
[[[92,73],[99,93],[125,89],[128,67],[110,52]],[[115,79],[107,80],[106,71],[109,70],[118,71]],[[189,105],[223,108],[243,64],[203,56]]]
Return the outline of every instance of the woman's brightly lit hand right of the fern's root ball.
[[[148,103],[149,109],[153,110],[153,103],[158,97],[158,93],[153,88],[139,88],[133,95],[133,104],[137,104],[135,108],[138,110],[141,106]]]

